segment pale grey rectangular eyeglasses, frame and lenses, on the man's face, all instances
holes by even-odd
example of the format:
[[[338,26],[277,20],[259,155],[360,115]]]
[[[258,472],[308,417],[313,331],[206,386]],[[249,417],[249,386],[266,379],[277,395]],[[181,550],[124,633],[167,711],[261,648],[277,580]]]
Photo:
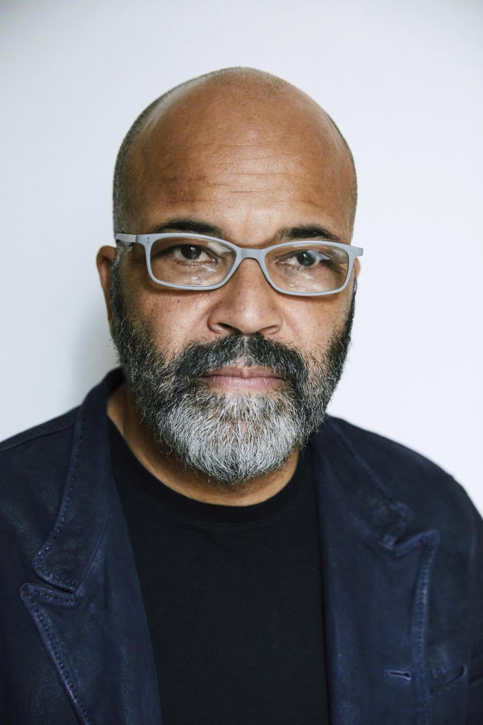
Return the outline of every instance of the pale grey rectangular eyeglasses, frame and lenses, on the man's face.
[[[140,244],[157,284],[177,289],[218,289],[240,262],[257,260],[266,281],[285,294],[334,294],[347,285],[361,247],[336,241],[290,241],[265,249],[238,247],[214,236],[186,233],[120,234],[117,244]]]

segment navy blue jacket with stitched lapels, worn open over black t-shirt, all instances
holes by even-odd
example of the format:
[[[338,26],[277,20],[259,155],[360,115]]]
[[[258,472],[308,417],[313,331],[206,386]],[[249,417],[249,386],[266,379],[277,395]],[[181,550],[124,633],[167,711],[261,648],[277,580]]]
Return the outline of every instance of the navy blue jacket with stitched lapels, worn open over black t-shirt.
[[[0,446],[2,725],[161,724],[109,455],[120,379]],[[436,465],[344,421],[314,450],[332,725],[482,725],[479,514]]]

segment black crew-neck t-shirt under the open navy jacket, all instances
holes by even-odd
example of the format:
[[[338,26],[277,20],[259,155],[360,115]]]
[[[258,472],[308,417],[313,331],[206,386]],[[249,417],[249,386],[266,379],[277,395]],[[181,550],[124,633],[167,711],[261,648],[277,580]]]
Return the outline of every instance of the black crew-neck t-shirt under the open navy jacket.
[[[195,501],[143,467],[109,421],[164,725],[329,723],[311,449],[272,498]]]

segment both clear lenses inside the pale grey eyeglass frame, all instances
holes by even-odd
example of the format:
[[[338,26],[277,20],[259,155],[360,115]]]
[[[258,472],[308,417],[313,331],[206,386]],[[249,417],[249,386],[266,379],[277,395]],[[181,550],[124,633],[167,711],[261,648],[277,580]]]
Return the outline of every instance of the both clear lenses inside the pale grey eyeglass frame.
[[[235,264],[235,250],[221,241],[158,239],[151,245],[151,271],[160,282],[209,287],[222,282]],[[266,270],[277,287],[292,292],[327,292],[345,283],[349,256],[324,242],[284,244],[265,257]]]

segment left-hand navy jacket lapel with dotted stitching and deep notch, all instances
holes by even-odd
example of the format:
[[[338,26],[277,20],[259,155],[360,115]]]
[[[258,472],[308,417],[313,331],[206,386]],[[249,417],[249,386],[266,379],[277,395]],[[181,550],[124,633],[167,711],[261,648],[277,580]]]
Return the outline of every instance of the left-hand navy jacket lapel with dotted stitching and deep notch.
[[[106,400],[114,371],[80,407],[59,515],[20,595],[79,721],[159,725],[151,640],[112,479]]]

